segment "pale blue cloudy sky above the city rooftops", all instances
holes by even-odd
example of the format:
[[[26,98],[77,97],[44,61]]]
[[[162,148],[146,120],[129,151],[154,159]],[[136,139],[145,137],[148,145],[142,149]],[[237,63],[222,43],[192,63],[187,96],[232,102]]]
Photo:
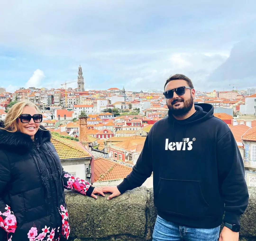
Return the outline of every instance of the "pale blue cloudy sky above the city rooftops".
[[[256,87],[256,1],[3,1],[0,86],[163,90],[173,74],[196,90]],[[75,88],[77,83],[67,87]]]

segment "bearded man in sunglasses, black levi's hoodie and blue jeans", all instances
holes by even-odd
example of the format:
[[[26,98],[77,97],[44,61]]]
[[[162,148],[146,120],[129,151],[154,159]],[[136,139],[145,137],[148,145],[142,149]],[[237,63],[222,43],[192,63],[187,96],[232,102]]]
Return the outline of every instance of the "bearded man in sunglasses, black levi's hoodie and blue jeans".
[[[240,215],[248,205],[244,166],[230,128],[210,104],[194,104],[184,75],[166,80],[168,117],[148,133],[132,172],[107,199],[141,186],[153,171],[158,215],[153,240],[238,241]],[[223,220],[223,214],[225,217]]]

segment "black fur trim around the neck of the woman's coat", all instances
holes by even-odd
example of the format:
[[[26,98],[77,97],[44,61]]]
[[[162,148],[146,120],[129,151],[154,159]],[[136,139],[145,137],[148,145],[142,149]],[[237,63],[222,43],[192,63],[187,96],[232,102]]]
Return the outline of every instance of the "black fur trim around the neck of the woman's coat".
[[[4,127],[4,121],[0,121],[0,127]],[[35,139],[41,144],[51,139],[50,131],[40,126],[43,130],[38,130]],[[8,132],[0,129],[0,149],[9,150],[16,153],[29,153],[33,150],[34,141],[29,135],[22,132]]]

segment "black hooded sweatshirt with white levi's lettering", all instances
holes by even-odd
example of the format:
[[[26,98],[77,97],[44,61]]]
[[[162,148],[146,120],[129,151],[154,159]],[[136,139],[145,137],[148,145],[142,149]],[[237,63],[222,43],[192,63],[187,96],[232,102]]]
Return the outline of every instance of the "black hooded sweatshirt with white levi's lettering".
[[[153,171],[154,203],[163,219],[195,228],[223,221],[240,225],[248,205],[244,166],[230,128],[210,104],[195,104],[185,120],[171,113],[148,133],[121,193],[141,186]]]

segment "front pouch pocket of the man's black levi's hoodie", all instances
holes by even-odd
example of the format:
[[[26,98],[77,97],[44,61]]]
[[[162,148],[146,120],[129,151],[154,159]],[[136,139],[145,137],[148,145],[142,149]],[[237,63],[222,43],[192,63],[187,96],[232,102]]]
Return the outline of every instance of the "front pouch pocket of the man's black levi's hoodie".
[[[156,205],[159,211],[200,218],[209,205],[199,181],[159,179]]]

